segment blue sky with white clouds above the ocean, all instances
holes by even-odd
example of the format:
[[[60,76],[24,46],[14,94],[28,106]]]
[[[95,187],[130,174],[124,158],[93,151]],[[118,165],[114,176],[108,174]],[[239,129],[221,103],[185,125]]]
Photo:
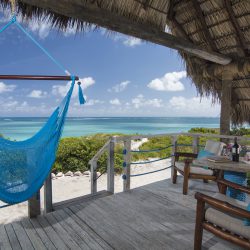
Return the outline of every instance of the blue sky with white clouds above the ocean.
[[[0,25],[8,17],[2,15]],[[219,105],[197,97],[180,56],[166,47],[104,30],[59,32],[47,23],[22,23],[72,74],[87,103],[74,93],[69,116],[214,116]],[[0,74],[63,72],[15,26],[0,34]],[[49,116],[67,82],[0,81],[0,116]]]

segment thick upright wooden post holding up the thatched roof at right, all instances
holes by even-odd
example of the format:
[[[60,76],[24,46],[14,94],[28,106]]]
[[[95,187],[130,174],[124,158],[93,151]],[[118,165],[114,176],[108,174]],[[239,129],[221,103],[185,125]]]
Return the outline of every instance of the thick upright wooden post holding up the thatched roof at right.
[[[222,88],[221,88],[221,115],[220,115],[221,135],[230,134],[232,80],[233,80],[233,74],[230,71],[223,71],[222,84],[221,84]],[[224,140],[222,139],[222,141]]]

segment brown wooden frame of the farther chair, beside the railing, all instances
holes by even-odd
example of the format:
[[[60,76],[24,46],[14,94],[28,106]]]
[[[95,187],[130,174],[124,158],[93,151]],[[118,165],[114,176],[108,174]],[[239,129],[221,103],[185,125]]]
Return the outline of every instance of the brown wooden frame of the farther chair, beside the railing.
[[[183,175],[183,194],[186,195],[188,193],[188,181],[189,179],[203,179],[205,183],[209,180],[216,181],[217,175],[202,175],[202,174],[194,174],[190,173],[190,164],[192,163],[193,159],[197,158],[198,154],[193,153],[183,153],[183,152],[176,152],[174,154],[174,174],[172,178],[172,182],[176,184],[177,181],[177,172]],[[175,162],[179,161],[180,157],[186,157],[187,159],[184,160],[184,171],[181,171],[175,166]]]

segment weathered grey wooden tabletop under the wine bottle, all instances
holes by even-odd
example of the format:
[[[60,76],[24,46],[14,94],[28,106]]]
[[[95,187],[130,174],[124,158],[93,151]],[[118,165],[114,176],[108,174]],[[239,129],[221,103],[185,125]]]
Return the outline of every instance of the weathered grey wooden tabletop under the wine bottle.
[[[250,162],[246,163],[244,161],[240,162],[223,162],[223,163],[218,163],[218,162],[212,162],[208,161],[207,158],[203,159],[195,159],[193,161],[193,167],[209,167],[214,170],[226,170],[226,171],[234,171],[234,172],[240,172],[240,173],[248,173],[250,172]]]

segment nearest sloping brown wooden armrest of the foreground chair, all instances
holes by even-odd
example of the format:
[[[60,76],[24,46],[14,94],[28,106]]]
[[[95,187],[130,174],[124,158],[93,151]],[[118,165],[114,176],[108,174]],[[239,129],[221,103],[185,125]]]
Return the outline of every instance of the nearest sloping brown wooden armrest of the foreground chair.
[[[250,212],[247,210],[244,210],[242,208],[233,206],[229,204],[228,202],[221,201],[218,199],[215,199],[211,196],[196,192],[195,193],[195,199],[202,201],[204,203],[209,204],[211,207],[217,208],[218,210],[226,213],[233,214],[235,216],[243,217],[246,219],[250,219]]]

